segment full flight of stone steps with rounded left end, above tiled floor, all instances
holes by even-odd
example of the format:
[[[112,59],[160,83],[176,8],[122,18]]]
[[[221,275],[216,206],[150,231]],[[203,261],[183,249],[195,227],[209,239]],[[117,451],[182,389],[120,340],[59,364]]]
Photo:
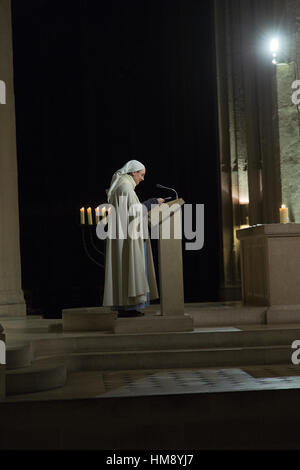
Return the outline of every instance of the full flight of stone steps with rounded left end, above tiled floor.
[[[193,332],[68,332],[60,320],[2,320],[7,396],[64,387],[80,371],[226,368],[291,364],[297,325],[196,328]],[[22,339],[22,340],[21,340]]]

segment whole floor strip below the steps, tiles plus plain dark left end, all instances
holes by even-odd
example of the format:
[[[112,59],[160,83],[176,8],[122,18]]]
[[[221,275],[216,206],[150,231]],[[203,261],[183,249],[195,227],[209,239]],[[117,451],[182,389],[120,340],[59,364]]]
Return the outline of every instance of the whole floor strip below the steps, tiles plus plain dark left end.
[[[149,395],[300,389],[300,366],[244,369],[84,371],[68,374],[64,387],[9,396],[7,402]]]

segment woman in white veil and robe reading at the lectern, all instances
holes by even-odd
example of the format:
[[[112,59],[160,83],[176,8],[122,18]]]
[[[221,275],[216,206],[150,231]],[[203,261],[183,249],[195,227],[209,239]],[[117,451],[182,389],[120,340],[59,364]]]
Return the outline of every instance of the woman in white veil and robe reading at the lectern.
[[[145,224],[143,236],[129,236],[126,231],[124,237],[124,212],[132,213],[133,206],[145,212],[151,206],[164,202],[162,198],[151,198],[143,205],[140,203],[135,187],[144,181],[145,173],[142,163],[130,160],[114,173],[107,191],[108,202],[115,210],[116,231],[114,237],[106,239],[103,305],[117,311],[118,317],[142,316],[150,300],[158,298],[151,244],[148,233],[145,233]]]

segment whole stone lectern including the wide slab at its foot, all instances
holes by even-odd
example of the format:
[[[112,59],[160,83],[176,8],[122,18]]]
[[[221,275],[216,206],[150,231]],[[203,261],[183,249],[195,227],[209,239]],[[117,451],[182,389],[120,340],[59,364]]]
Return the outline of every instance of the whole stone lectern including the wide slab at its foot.
[[[149,235],[158,239],[160,314],[117,318],[115,333],[167,333],[193,331],[193,318],[184,314],[182,269],[182,199],[155,206],[146,217]]]

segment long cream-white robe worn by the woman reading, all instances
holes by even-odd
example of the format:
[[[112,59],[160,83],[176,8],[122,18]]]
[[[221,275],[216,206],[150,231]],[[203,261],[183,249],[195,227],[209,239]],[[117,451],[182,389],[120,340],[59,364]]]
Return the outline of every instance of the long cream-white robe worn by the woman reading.
[[[135,186],[136,183],[132,176],[122,175],[110,197],[110,204],[114,206],[116,211],[116,239],[106,239],[104,306],[138,305],[147,301],[148,292],[150,300],[158,298],[149,238],[145,237],[148,283],[143,238],[132,239],[128,234],[125,239],[118,237],[120,233],[119,197],[127,197],[128,211],[131,205],[140,204],[134,190]]]

